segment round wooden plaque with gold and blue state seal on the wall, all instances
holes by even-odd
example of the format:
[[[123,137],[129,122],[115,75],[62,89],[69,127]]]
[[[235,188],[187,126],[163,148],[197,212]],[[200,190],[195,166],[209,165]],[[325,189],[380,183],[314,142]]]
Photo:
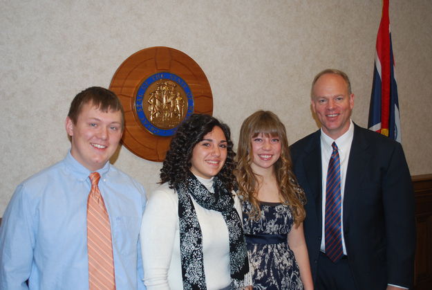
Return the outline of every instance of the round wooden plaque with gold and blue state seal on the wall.
[[[213,114],[203,70],[185,53],[158,46],[128,57],[111,84],[124,107],[123,145],[149,161],[163,161],[178,125],[193,113]]]

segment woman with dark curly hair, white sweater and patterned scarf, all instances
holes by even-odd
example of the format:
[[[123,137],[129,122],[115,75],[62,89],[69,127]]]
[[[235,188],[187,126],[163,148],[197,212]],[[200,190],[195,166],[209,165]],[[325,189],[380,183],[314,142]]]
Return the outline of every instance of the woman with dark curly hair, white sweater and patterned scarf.
[[[141,226],[144,284],[238,289],[248,273],[229,127],[193,114],[173,136]]]

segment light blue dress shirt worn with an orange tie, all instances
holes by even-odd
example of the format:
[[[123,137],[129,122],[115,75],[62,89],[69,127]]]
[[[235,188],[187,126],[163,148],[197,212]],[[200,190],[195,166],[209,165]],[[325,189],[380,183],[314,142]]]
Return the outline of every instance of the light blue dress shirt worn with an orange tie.
[[[145,289],[140,183],[107,162],[97,170],[111,222],[118,290]],[[66,158],[18,185],[0,227],[0,289],[88,289],[86,207],[91,172]]]

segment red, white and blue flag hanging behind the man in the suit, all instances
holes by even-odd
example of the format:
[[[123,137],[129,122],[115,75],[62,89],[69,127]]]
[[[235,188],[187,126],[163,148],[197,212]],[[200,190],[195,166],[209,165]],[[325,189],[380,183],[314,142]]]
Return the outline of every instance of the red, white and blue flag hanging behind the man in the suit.
[[[378,28],[368,128],[402,143],[388,1],[383,0]]]

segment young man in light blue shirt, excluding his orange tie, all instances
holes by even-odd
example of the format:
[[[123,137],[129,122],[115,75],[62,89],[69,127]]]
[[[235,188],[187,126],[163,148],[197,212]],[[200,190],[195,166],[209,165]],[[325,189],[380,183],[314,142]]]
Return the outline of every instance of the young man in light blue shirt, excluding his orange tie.
[[[92,172],[100,175],[109,216],[114,287],[144,289],[138,242],[144,188],[109,163],[123,128],[115,93],[91,87],[75,96],[66,118],[71,150],[18,185],[3,215],[0,289],[93,289],[87,239]]]

